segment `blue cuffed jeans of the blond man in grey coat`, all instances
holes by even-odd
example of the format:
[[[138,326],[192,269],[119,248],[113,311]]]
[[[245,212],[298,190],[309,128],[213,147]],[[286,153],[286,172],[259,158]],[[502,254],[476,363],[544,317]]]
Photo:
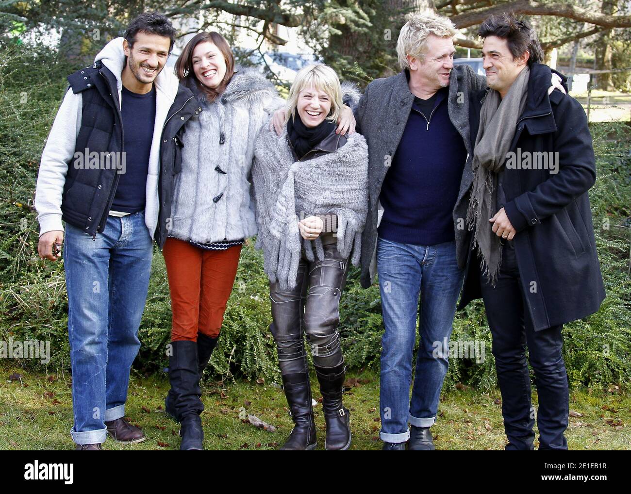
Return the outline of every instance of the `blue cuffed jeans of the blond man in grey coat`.
[[[451,335],[464,271],[456,261],[456,242],[424,247],[378,238],[377,273],[386,327],[381,340],[380,437],[405,442],[410,438],[408,421],[429,427],[436,420],[449,365],[444,342]],[[420,344],[410,400],[419,314]]]

